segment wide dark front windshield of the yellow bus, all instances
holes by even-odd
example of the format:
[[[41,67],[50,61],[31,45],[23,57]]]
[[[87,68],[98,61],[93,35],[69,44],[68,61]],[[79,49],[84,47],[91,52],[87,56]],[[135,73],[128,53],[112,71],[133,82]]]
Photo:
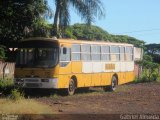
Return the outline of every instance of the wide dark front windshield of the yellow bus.
[[[51,68],[58,64],[58,48],[20,48],[16,67]]]

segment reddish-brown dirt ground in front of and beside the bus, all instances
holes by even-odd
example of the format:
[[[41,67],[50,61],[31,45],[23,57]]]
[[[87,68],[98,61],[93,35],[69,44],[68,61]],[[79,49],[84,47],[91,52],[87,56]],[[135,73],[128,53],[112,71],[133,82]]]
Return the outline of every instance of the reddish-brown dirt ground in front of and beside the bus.
[[[121,85],[115,92],[91,88],[74,96],[36,98],[56,114],[160,114],[160,83]]]

